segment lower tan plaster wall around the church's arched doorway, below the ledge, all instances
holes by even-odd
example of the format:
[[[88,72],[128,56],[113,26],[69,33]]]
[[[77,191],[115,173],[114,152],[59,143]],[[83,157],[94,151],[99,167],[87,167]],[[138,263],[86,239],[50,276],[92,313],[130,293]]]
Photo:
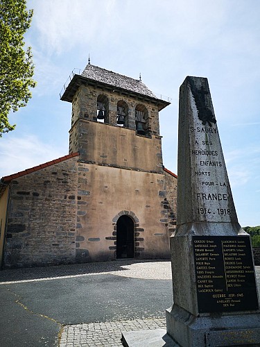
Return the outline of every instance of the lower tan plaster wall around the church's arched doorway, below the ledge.
[[[79,163],[78,261],[116,257],[116,221],[135,222],[135,257],[169,257],[164,175]]]

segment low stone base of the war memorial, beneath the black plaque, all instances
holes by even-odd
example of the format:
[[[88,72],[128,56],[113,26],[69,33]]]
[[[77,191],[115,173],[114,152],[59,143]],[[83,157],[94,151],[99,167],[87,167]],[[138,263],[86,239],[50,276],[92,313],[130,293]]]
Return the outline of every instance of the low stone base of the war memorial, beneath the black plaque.
[[[166,310],[167,333],[182,347],[260,346],[260,314],[194,316],[177,305]]]

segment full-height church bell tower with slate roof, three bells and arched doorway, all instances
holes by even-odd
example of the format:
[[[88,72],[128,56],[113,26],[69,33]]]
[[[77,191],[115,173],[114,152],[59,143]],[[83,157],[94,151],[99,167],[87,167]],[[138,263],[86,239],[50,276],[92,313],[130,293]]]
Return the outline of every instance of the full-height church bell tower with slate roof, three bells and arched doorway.
[[[61,99],[72,103],[69,153],[79,153],[76,261],[169,257],[174,221],[159,134],[169,102],[141,78],[90,63]]]

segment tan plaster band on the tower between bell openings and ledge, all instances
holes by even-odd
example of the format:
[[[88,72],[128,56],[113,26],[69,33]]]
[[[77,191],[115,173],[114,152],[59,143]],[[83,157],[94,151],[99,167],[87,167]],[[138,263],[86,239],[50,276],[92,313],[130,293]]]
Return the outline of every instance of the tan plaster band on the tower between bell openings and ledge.
[[[94,121],[78,121],[74,126],[78,140],[71,151],[80,151],[80,159],[96,164],[162,172],[161,137],[147,138],[135,130]]]

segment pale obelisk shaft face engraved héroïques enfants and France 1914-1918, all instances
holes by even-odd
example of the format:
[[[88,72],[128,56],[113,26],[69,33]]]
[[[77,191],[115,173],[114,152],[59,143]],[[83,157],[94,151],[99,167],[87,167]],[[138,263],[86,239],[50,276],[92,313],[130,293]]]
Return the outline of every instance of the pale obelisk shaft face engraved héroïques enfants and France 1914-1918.
[[[193,214],[198,221],[230,221],[235,214],[216,126],[189,126]]]

